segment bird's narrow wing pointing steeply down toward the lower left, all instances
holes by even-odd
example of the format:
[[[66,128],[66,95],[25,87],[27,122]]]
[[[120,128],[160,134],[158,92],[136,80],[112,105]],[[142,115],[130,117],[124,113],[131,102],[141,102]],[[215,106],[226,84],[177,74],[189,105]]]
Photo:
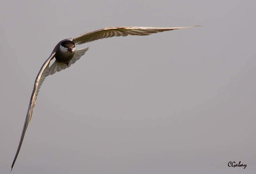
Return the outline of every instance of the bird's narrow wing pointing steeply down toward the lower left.
[[[13,167],[13,165],[14,165],[16,159],[17,159],[17,156],[20,152],[20,147],[21,147],[22,141],[24,139],[24,135],[25,135],[25,132],[27,130],[28,123],[31,119],[33,108],[34,108],[35,103],[36,103],[36,96],[38,95],[39,89],[40,89],[45,77],[47,76],[47,73],[49,71],[49,63],[53,59],[54,56],[55,56],[55,51],[53,51],[51,56],[44,62],[42,68],[40,69],[40,71],[39,71],[39,73],[36,77],[34,89],[33,89],[33,92],[32,92],[31,98],[30,98],[30,102],[29,102],[29,106],[28,106],[28,112],[27,112],[25,124],[24,124],[23,131],[22,131],[21,138],[20,138],[20,143],[19,143],[16,155],[14,157],[12,167]]]

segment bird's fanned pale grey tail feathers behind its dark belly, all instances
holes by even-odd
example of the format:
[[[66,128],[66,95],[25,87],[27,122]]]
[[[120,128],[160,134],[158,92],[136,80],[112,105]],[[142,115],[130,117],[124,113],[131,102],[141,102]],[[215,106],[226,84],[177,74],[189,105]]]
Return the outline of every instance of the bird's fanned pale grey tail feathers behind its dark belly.
[[[71,64],[74,64],[78,59],[80,59],[81,56],[84,55],[84,53],[89,49],[89,47],[84,49],[77,49],[75,50],[74,57],[70,60],[70,62],[67,64],[61,63],[61,62],[53,62],[53,64],[50,66],[49,71],[47,72],[47,75],[52,75],[55,72],[60,72],[61,70],[65,70],[66,68],[70,67]]]

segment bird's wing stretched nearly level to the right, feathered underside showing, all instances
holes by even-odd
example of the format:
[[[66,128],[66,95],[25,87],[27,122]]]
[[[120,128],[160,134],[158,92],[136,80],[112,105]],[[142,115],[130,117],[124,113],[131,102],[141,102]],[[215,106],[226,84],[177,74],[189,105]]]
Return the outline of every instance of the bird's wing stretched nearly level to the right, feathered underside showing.
[[[98,39],[113,37],[113,36],[128,36],[128,35],[149,35],[163,31],[177,30],[182,28],[191,28],[196,26],[176,27],[176,28],[161,28],[161,27],[108,27],[99,30],[89,31],[79,36],[73,37],[72,40],[75,44],[83,44],[87,42],[96,41]]]

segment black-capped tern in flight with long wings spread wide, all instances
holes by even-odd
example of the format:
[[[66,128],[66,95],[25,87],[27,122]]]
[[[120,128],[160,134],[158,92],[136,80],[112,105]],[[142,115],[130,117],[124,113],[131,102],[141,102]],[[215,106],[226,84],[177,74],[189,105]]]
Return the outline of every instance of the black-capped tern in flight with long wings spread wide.
[[[60,72],[74,64],[81,56],[85,54],[85,52],[89,49],[89,47],[84,49],[76,49],[76,45],[80,45],[87,42],[96,41],[103,38],[113,37],[113,36],[127,36],[127,35],[150,35],[153,33],[159,33],[163,31],[170,31],[182,28],[191,28],[197,26],[187,26],[187,27],[174,27],[174,28],[164,28],[164,27],[107,27],[101,28],[98,30],[93,30],[90,32],[86,32],[80,34],[76,37],[64,39],[60,41],[52,51],[50,57],[44,62],[41,67],[39,73],[36,76],[36,81],[34,84],[33,92],[30,98],[28,112],[25,119],[25,124],[22,130],[20,143],[14,157],[13,165],[18,157],[20,152],[21,144],[24,139],[25,132],[28,127],[28,123],[30,122],[33,108],[36,102],[36,96],[38,95],[39,89],[45,79],[45,77],[54,74],[55,72]],[[49,66],[51,60],[55,58],[55,61],[51,66]],[[12,171],[12,169],[11,169]]]

